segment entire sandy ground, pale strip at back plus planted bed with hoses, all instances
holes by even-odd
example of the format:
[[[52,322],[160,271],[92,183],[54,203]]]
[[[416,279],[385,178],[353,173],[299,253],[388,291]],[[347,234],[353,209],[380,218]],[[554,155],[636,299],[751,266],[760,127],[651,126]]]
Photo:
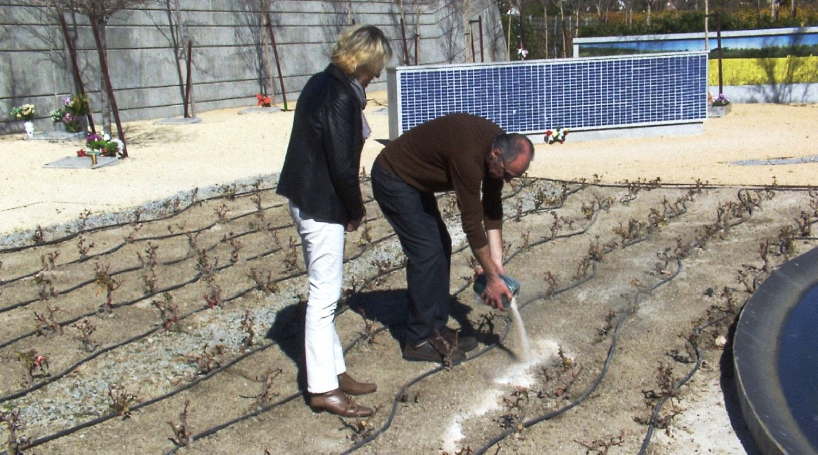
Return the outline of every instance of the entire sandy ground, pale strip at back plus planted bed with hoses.
[[[386,115],[379,113],[385,94],[370,97],[375,133],[366,143],[367,168],[381,147],[374,139],[387,137]],[[276,172],[291,113],[238,111],[202,113],[200,124],[128,124],[131,158],[96,170],[41,169],[73,155],[81,142],[0,138],[0,152],[9,157],[0,232]],[[816,120],[816,106],[737,105],[724,118],[708,119],[702,136],[604,142],[569,136],[564,144],[538,146],[529,176],[595,184],[533,178],[506,191],[506,270],[523,284],[519,303],[533,347],[528,363],[519,359],[518,327],[472,302],[467,250],[453,261],[452,323],[476,331],[477,352],[484,353],[439,372],[402,361],[401,255],[370,203],[371,219],[347,239],[345,286],[357,292],[348,300],[352,311],[337,322],[344,343],[357,340],[347,354],[349,371],[379,385],[359,399],[379,407],[367,421],[314,415],[297,394],[305,278],[284,201],[269,182],[259,191],[245,187],[243,196],[226,190],[189,209],[182,205],[161,221],[3,250],[0,359],[7,367],[0,409],[20,410],[17,436],[37,442],[109,415],[115,399],[137,408],[127,419],[100,419],[38,444],[34,453],[165,453],[174,449],[168,439],[179,439],[172,426],[181,425],[195,440],[180,453],[341,453],[367,436],[376,437],[359,452],[470,453],[503,431],[513,434],[491,453],[636,453],[651,409],[669,399],[647,453],[755,453],[733,396],[729,326],[753,291],[753,277],[763,280],[812,246],[796,240],[793,250],[781,248],[803,233],[802,212],[807,222],[800,227],[815,221],[815,198],[762,186],[774,177],[781,185],[810,185],[818,164],[731,163],[815,154],[809,135]],[[645,183],[656,178],[685,185]],[[692,185],[697,180],[727,186]],[[643,183],[612,185],[624,181]],[[755,187],[739,191],[743,185]],[[364,189],[369,194],[368,184]],[[440,205],[463,246],[450,199]],[[788,229],[794,233],[782,235]],[[164,331],[161,322],[176,328],[173,305],[181,330]],[[169,313],[160,318],[158,307]],[[676,388],[697,365],[696,346],[702,362]],[[47,367],[31,368],[29,377],[32,349],[47,356]],[[25,390],[42,381],[53,383]],[[9,398],[20,390],[22,396]],[[202,433],[255,409],[263,412]],[[4,426],[0,437],[7,439]]]

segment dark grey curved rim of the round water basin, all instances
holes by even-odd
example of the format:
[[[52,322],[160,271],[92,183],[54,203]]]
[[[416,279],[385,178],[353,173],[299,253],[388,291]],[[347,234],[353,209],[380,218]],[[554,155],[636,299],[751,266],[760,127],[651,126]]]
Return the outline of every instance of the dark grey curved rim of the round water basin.
[[[733,340],[741,412],[766,454],[818,454],[791,414],[778,377],[781,331],[802,296],[818,285],[818,248],[789,260],[750,297]]]

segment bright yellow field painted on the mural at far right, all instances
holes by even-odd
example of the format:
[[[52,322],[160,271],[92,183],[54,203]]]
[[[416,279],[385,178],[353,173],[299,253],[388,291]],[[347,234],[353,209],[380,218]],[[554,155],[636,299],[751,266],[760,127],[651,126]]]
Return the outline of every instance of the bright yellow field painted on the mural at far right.
[[[718,61],[709,61],[708,83],[718,85]],[[818,56],[730,58],[721,61],[724,85],[818,83]]]

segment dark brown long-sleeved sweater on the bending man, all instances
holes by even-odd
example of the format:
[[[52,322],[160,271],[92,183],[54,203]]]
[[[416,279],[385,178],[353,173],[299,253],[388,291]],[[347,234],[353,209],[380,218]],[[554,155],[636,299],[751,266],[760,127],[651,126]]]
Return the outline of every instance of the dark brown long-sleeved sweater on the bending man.
[[[476,115],[443,115],[389,142],[377,162],[420,191],[454,190],[463,232],[478,249],[488,245],[483,227],[501,227],[503,181],[489,175],[486,156],[502,133],[491,120]]]

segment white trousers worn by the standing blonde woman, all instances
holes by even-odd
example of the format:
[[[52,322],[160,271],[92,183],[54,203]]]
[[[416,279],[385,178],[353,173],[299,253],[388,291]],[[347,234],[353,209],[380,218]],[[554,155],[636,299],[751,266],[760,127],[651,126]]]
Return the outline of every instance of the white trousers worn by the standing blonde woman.
[[[307,390],[321,394],[338,388],[338,375],[347,370],[344,347],[335,331],[335,307],[341,297],[344,264],[344,226],[321,223],[290,203],[290,214],[301,237],[309,278],[304,318]]]

